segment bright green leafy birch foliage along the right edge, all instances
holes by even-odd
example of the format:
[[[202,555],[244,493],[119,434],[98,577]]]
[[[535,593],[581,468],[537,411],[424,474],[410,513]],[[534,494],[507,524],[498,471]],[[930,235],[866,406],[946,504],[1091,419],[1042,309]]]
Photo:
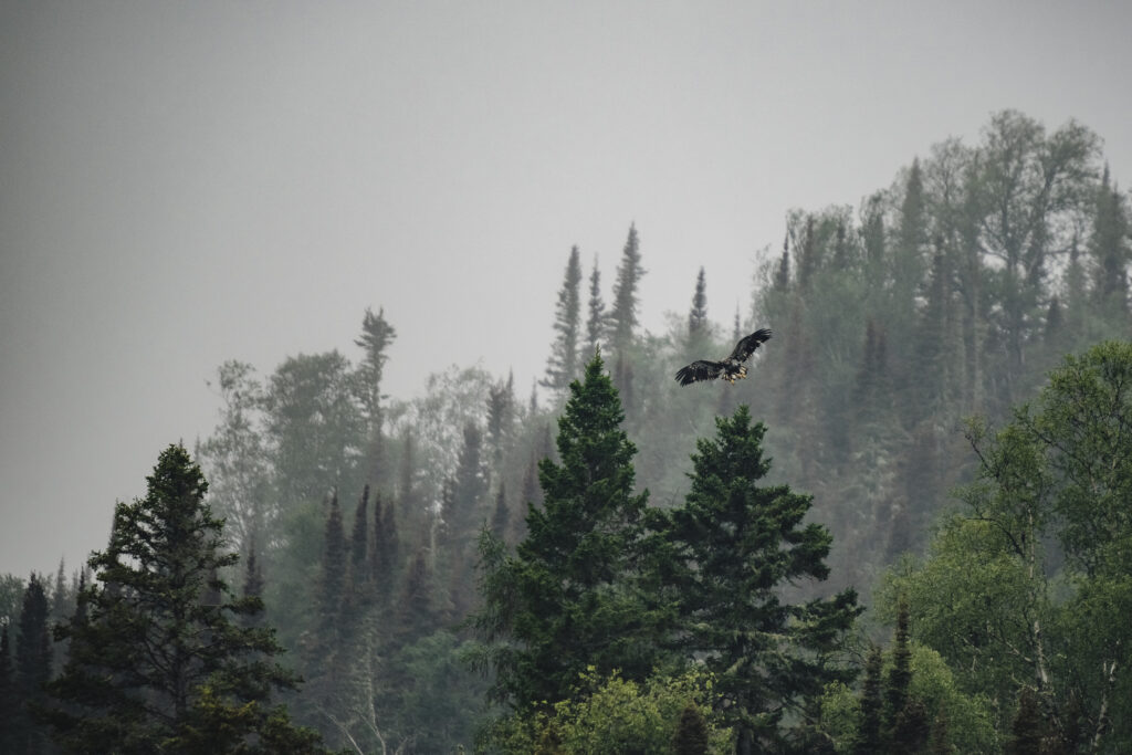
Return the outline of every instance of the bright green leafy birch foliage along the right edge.
[[[1130,384],[1132,344],[1104,343],[1067,357],[1001,430],[972,422],[980,473],[963,515],[882,593],[891,604],[907,592],[916,638],[968,688],[1012,701],[1029,687],[1055,739],[1117,749],[1132,736],[1109,718],[1126,688],[1118,649],[1132,642],[1116,618],[1132,609]],[[1004,705],[996,718],[1006,731],[1017,717]]]

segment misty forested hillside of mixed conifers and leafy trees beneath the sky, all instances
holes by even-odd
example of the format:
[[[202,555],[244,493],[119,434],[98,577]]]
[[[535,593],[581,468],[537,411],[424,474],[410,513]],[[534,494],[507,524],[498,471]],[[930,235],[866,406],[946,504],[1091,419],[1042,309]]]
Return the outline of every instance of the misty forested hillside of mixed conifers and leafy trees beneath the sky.
[[[386,395],[380,309],[351,355],[220,366],[192,456],[223,530],[195,584],[239,592],[204,603],[256,617],[237,650],[261,662],[198,680],[191,731],[359,753],[1132,749],[1130,212],[1097,135],[1004,111],[857,206],[789,212],[726,324],[701,269],[668,331],[642,329],[646,229],[612,271],[564,250],[529,388],[452,367]],[[672,379],[757,327],[748,379]],[[126,512],[74,574],[0,577],[0,752],[82,752],[76,638],[108,642],[89,611],[144,592],[123,586],[145,561]],[[175,730],[171,752],[197,752]]]

